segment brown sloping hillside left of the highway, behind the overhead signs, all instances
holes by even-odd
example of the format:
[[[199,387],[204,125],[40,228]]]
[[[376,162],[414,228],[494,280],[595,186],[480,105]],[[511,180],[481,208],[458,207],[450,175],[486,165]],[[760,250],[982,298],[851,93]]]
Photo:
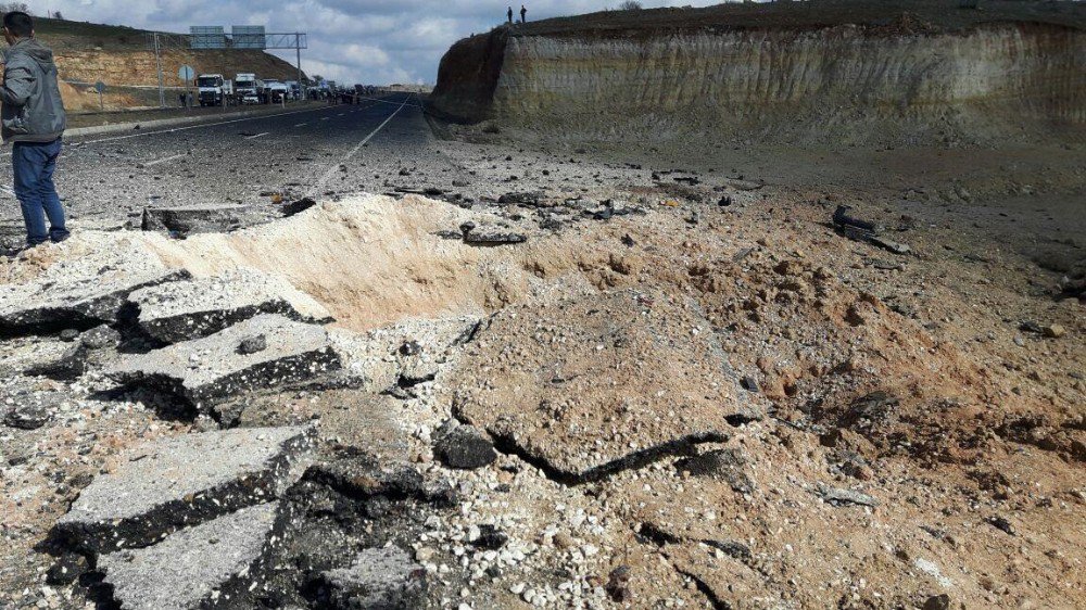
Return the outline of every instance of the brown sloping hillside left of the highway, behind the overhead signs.
[[[112,107],[157,103],[157,69],[154,53],[147,49],[146,30],[64,20],[35,20],[36,34],[53,49],[61,79],[73,84],[92,84],[101,80],[108,87],[106,105]],[[260,77],[292,80],[296,68],[290,63],[263,51],[253,50],[191,50],[173,42],[162,52],[163,79],[166,87],[185,84],[177,77],[181,65],[192,66],[197,73],[232,75],[241,72],[256,73]],[[97,110],[98,96],[86,86],[62,87],[65,105],[70,110]],[[169,96],[172,103],[174,94]]]

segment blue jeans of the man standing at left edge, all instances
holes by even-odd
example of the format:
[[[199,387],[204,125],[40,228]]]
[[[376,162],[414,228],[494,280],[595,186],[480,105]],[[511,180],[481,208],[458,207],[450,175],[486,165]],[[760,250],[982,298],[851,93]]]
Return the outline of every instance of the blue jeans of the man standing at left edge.
[[[68,237],[64,227],[64,208],[53,186],[53,169],[61,154],[61,139],[52,142],[15,142],[11,164],[15,170],[15,196],[23,208],[26,243],[38,245],[46,240],[63,241]],[[46,218],[49,230],[46,230]]]

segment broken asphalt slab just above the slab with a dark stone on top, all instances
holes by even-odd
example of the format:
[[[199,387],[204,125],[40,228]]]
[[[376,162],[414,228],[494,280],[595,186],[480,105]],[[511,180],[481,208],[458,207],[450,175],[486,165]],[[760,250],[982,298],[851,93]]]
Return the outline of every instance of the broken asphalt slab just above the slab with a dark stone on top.
[[[137,290],[128,301],[139,312],[140,330],[163,343],[207,336],[260,314],[303,321],[331,318],[285,280],[249,269]]]

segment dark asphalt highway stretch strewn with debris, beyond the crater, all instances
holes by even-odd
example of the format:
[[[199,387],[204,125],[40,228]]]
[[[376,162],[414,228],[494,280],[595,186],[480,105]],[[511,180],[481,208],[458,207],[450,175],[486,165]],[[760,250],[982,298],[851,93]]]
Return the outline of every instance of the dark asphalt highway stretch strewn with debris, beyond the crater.
[[[434,144],[418,98],[401,93],[358,105],[66,139],[56,185],[72,218],[109,224],[149,205],[384,192],[402,170],[452,171]],[[7,165],[10,149],[0,154]],[[10,173],[0,174],[0,218],[21,226]]]

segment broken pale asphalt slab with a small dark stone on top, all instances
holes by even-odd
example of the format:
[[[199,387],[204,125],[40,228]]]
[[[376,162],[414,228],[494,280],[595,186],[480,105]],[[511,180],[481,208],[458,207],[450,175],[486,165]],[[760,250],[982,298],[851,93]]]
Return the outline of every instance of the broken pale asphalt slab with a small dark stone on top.
[[[238,351],[265,335],[265,350]],[[200,409],[210,401],[247,391],[310,380],[341,367],[328,332],[314,325],[263,314],[203,339],[123,357],[106,374],[126,385],[155,389]]]

